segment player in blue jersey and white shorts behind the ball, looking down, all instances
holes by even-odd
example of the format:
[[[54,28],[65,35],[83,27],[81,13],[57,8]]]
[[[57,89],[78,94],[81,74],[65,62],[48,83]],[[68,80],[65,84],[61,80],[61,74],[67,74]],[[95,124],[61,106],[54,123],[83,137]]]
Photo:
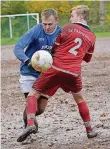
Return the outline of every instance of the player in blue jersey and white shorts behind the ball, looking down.
[[[41,21],[42,23],[35,25],[26,32],[14,47],[14,54],[21,61],[19,82],[25,98],[27,98],[34,81],[40,74],[29,65],[32,55],[41,49],[51,52],[55,39],[61,31],[60,26],[57,25],[58,14],[54,9],[44,10],[41,13]],[[39,110],[36,115],[43,113],[46,105],[47,98],[41,96],[38,100]],[[23,119],[26,127],[26,110],[24,110]],[[37,122],[35,124],[37,125]]]

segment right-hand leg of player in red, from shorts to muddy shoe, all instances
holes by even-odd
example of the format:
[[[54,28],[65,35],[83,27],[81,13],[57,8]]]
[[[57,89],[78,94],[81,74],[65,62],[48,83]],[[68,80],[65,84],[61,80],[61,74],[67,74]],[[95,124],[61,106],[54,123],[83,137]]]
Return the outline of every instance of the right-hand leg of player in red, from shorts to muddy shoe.
[[[71,91],[72,95],[78,105],[79,113],[81,118],[84,121],[84,125],[86,127],[87,131],[87,136],[88,138],[93,138],[97,135],[97,133],[92,131],[92,127],[90,124],[90,113],[89,113],[89,108],[88,105],[81,93],[82,90],[82,79],[81,76],[74,77],[72,75],[66,75],[65,84],[62,85],[62,88],[68,92]],[[73,82],[73,83],[72,83]]]

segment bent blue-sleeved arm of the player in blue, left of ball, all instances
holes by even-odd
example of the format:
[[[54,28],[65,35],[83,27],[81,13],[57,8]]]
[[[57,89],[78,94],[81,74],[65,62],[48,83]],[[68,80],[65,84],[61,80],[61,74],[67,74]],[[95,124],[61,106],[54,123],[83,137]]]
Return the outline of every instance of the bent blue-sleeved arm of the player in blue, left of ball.
[[[15,56],[23,63],[29,60],[29,58],[25,54],[24,49],[37,38],[38,33],[38,26],[34,26],[32,29],[26,32],[16,43],[13,52]]]

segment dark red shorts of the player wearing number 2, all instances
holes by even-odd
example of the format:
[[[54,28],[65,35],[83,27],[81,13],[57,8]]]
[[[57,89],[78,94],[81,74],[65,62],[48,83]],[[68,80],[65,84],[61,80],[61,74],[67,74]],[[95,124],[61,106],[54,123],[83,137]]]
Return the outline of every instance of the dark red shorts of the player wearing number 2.
[[[62,88],[65,92],[77,93],[82,89],[82,79],[81,76],[75,77],[51,67],[40,74],[33,88],[48,96],[53,96],[58,88]]]

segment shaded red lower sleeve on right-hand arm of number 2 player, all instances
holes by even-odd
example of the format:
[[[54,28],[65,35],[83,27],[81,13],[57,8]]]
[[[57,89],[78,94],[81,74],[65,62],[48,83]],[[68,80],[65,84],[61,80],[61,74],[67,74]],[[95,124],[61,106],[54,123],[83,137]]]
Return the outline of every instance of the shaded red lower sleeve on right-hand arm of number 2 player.
[[[93,56],[94,53],[94,45],[91,46],[91,48],[88,50],[88,52],[85,54],[85,56],[83,57],[83,60],[88,63],[91,61],[91,58]]]

